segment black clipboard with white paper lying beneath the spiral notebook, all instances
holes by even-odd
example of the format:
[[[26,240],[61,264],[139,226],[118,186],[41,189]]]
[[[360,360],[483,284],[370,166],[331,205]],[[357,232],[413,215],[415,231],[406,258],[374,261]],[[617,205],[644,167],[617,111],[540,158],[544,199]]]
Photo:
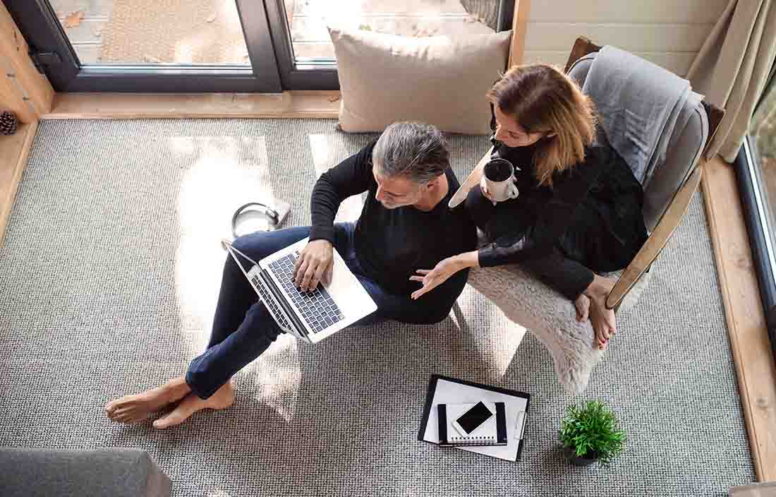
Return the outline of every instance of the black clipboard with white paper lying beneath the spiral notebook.
[[[528,419],[528,401],[531,395],[507,388],[458,380],[439,374],[432,374],[426,392],[421,427],[417,440],[439,445],[438,405],[483,402],[504,402],[504,420],[507,428],[506,445],[454,446],[505,461],[517,461],[524,446],[523,436]],[[449,450],[449,449],[444,449]]]

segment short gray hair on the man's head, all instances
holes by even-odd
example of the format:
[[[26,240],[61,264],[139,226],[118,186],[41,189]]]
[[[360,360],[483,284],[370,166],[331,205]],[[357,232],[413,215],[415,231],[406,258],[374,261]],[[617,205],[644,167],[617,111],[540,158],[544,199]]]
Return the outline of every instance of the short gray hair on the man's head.
[[[372,163],[385,176],[407,176],[425,184],[450,166],[450,151],[442,132],[423,123],[393,123],[372,150]]]

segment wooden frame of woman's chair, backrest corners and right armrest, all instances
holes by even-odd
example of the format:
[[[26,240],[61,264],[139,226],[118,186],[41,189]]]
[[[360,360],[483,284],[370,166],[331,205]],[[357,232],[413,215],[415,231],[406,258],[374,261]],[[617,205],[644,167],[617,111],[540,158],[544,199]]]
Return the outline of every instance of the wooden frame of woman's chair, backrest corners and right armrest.
[[[591,42],[584,36],[577,38],[574,42],[574,46],[571,49],[569,60],[566,62],[565,71],[568,73],[573,66],[574,62],[587,54],[593,54],[601,50],[601,47]],[[712,138],[719,127],[722,117],[725,116],[725,110],[706,102],[702,102],[703,107],[708,117],[708,137],[703,144],[703,153],[698,158],[698,162],[705,160],[706,152],[708,151],[708,145],[712,142]],[[704,159],[702,159],[704,158]],[[639,279],[650,269],[653,262],[657,259],[660,252],[666,246],[668,239],[674,234],[674,231],[681,223],[684,214],[687,213],[690,207],[690,202],[695,192],[698,191],[698,186],[701,183],[702,168],[698,167],[698,162],[691,165],[690,174],[688,178],[684,180],[684,183],[677,189],[674,197],[671,199],[666,210],[660,216],[660,220],[657,222],[655,229],[650,233],[650,237],[633,258],[631,263],[622,272],[622,275],[615,283],[615,287],[612,288],[611,293],[606,299],[606,307],[609,309],[619,308],[622,304],[622,300],[629,293],[629,291],[638,283]]]

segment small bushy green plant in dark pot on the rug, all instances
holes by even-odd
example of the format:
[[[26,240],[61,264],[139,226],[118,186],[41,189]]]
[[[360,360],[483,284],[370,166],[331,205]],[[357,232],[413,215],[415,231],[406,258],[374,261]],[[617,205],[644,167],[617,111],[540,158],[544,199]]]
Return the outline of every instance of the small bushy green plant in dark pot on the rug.
[[[570,405],[560,422],[560,443],[572,464],[587,466],[595,461],[609,464],[622,452],[625,432],[617,416],[601,401]]]

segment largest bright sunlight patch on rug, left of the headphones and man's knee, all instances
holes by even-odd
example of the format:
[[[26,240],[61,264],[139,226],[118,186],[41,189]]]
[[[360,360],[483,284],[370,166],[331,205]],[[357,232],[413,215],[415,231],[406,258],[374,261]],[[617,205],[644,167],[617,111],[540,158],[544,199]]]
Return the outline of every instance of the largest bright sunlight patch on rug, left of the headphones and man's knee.
[[[250,201],[272,202],[265,137],[171,137],[176,154],[195,155],[178,193],[175,290],[189,353],[208,342],[227,252],[231,218]],[[246,154],[245,151],[249,153]]]

